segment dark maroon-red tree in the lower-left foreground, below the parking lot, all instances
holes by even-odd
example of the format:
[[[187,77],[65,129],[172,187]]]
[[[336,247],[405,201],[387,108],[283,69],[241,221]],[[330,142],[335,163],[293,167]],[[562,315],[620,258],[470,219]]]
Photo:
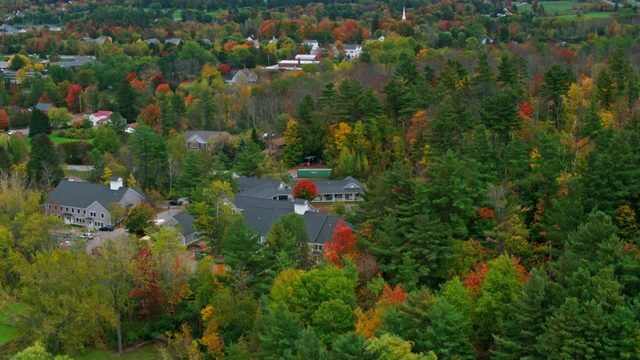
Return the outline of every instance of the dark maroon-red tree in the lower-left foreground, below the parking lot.
[[[136,254],[135,268],[136,285],[129,293],[129,297],[140,301],[140,315],[156,318],[164,300],[157,281],[157,262],[148,247],[143,247]]]

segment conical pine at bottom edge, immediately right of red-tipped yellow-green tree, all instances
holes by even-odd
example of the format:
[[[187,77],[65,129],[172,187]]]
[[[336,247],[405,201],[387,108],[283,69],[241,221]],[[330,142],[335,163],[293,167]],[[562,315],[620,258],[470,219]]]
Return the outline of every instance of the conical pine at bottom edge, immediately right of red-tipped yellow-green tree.
[[[543,270],[534,268],[522,288],[522,297],[513,304],[513,318],[500,324],[503,336],[495,338],[497,350],[492,351],[492,360],[543,360],[539,352],[538,337],[544,332],[543,325],[550,315],[548,295],[549,281]]]

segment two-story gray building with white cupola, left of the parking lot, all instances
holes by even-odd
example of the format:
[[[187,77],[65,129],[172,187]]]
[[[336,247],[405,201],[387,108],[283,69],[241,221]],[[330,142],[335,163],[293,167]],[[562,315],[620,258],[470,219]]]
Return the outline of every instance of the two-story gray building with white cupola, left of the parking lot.
[[[112,202],[129,209],[144,201],[147,195],[140,189],[122,186],[122,177],[112,176],[108,185],[60,181],[44,207],[47,215],[60,217],[65,224],[100,227],[122,220],[109,215]]]

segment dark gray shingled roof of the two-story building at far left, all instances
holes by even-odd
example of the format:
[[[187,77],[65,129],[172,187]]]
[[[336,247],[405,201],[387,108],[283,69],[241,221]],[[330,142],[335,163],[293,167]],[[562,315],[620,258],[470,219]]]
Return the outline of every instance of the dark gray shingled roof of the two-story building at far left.
[[[46,203],[72,206],[74,208],[87,208],[97,201],[106,209],[111,202],[120,202],[127,190],[129,190],[127,187],[111,190],[109,185],[63,180],[49,195]],[[140,189],[132,188],[131,190],[145,198],[147,196]]]

